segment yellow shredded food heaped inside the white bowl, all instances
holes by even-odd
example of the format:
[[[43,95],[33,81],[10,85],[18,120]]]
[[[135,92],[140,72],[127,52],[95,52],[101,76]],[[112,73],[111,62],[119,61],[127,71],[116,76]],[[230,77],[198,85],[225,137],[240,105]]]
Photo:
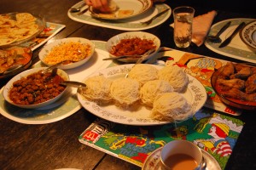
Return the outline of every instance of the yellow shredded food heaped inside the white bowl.
[[[85,59],[91,54],[90,44],[80,42],[63,42],[51,49],[44,57],[44,62],[55,65],[64,60],[73,62]]]

